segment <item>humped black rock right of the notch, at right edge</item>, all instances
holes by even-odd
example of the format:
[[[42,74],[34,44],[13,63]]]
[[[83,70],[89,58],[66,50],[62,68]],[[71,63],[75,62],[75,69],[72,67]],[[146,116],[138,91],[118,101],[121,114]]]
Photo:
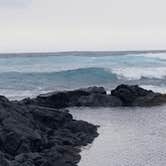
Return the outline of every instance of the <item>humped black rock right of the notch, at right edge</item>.
[[[111,91],[118,97],[123,106],[157,106],[166,103],[166,95],[145,90],[137,85],[119,85]]]

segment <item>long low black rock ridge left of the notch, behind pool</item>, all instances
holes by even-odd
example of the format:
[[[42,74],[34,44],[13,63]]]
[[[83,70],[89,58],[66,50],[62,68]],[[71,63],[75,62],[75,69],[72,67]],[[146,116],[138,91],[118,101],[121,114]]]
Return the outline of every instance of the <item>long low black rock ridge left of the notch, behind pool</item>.
[[[73,106],[121,106],[119,98],[107,95],[103,87],[89,87],[72,91],[53,92],[39,95],[35,99],[24,99],[24,104],[40,105],[52,108]]]

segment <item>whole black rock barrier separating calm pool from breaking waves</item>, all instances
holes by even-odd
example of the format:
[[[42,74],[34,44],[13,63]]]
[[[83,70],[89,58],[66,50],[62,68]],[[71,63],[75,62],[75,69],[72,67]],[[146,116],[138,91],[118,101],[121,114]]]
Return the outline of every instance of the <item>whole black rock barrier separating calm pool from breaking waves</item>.
[[[24,99],[21,103],[52,108],[155,106],[166,103],[166,95],[145,90],[138,85],[119,85],[111,91],[111,95],[106,94],[102,87],[90,87],[43,94],[35,99]]]

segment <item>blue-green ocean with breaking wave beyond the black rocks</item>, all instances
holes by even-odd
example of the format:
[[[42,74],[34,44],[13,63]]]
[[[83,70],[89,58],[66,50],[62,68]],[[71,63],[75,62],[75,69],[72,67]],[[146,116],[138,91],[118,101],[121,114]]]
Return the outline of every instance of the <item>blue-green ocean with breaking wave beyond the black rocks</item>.
[[[88,86],[139,84],[166,93],[166,52],[0,55],[0,94],[10,99]]]

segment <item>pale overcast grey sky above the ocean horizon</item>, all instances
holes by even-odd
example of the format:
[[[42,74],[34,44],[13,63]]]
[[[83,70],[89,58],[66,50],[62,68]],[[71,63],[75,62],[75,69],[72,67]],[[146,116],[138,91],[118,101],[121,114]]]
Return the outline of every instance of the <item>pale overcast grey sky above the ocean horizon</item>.
[[[0,52],[166,49],[165,0],[0,0]]]

